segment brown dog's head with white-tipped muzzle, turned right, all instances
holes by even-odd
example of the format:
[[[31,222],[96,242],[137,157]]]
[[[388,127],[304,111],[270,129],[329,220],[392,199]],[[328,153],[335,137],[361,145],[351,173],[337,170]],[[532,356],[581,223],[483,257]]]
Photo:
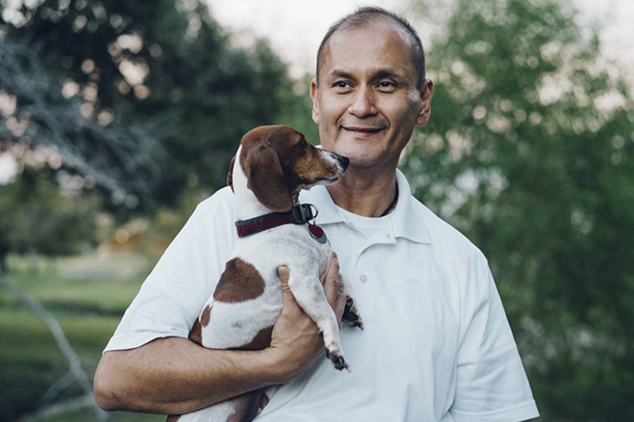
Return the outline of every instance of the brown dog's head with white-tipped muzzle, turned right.
[[[301,189],[330,184],[344,173],[350,160],[315,148],[288,126],[260,126],[240,141],[240,157],[233,157],[227,184],[233,189],[236,161],[247,176],[247,188],[265,207],[290,210]]]

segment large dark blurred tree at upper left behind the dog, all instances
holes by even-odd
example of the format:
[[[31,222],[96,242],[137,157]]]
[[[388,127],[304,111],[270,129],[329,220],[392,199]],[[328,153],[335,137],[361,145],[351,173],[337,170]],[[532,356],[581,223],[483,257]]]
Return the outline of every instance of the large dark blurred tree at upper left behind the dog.
[[[221,186],[292,89],[266,42],[236,48],[198,0],[0,4],[0,139],[55,145],[115,205]]]

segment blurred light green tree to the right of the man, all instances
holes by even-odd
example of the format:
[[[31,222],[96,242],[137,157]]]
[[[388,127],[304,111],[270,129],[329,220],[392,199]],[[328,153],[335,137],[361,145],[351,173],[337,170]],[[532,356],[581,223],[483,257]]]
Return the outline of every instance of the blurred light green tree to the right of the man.
[[[403,169],[488,255],[544,420],[634,420],[631,87],[564,2],[451,4]]]

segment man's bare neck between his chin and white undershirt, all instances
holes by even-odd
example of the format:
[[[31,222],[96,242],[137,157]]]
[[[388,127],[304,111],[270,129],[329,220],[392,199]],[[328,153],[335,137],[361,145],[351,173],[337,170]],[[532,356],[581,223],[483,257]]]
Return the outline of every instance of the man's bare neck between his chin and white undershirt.
[[[349,167],[344,176],[327,189],[335,204],[344,210],[365,217],[380,217],[391,212],[389,208],[397,195],[396,169],[377,172]]]

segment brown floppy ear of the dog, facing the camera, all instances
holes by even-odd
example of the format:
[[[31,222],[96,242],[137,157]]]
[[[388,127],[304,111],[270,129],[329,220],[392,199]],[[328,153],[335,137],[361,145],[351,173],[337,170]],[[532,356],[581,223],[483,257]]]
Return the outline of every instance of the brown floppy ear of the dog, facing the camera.
[[[275,212],[290,211],[293,200],[284,183],[277,151],[268,142],[258,143],[242,159],[247,187],[265,207]]]

